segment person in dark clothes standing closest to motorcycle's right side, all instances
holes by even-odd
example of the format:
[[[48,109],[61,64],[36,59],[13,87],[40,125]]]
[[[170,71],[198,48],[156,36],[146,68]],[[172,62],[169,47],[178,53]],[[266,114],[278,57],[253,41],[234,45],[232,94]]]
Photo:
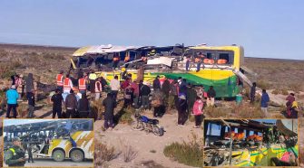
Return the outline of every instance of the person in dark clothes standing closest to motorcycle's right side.
[[[177,124],[178,126],[184,126],[184,124],[187,121],[187,99],[185,95],[181,94],[179,96],[178,103],[176,105],[177,111],[178,111],[178,119]]]

